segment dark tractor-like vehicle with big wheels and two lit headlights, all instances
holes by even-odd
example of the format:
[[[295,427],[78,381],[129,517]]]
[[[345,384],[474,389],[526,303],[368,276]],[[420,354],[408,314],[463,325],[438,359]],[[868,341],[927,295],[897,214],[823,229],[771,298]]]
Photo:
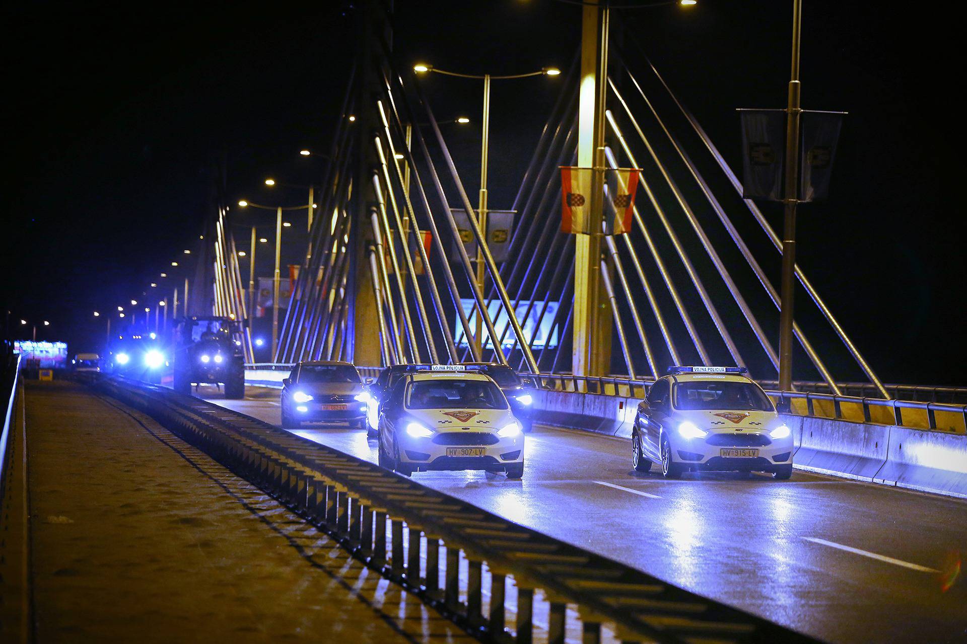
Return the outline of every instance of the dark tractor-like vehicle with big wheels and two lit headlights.
[[[242,328],[228,318],[190,317],[175,323],[171,364],[174,389],[191,394],[191,385],[224,385],[225,398],[245,398]]]

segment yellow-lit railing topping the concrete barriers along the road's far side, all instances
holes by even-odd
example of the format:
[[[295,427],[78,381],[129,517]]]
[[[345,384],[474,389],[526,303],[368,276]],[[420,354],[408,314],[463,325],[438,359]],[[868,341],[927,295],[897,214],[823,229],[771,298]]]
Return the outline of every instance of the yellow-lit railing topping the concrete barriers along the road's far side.
[[[291,370],[294,365],[258,363],[251,369],[269,371]],[[358,367],[364,378],[378,376],[379,367]],[[598,394],[623,398],[644,398],[653,380],[630,379],[622,376],[573,376],[571,374],[520,373],[534,386],[553,391]],[[762,383],[768,386],[768,381]],[[814,383],[815,384],[815,383]],[[955,393],[960,387],[927,387],[918,385],[888,385],[911,391]],[[967,391],[967,390],[965,390]],[[895,425],[915,430],[931,430],[952,434],[967,434],[967,405],[933,401],[885,400],[866,396],[836,396],[815,391],[777,391],[766,389],[773,402],[788,403],[788,412],[799,416],[832,418],[858,423]]]

